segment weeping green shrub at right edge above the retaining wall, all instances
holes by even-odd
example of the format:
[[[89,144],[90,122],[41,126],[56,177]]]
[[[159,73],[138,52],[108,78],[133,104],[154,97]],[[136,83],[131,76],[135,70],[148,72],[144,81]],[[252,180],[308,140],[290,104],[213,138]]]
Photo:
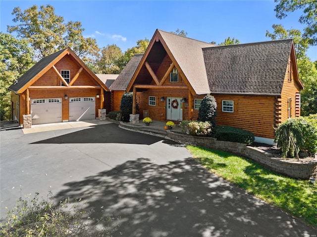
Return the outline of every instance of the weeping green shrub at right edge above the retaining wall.
[[[293,158],[296,153],[317,152],[316,115],[300,118],[289,118],[275,132],[274,142],[281,148],[282,158]]]

